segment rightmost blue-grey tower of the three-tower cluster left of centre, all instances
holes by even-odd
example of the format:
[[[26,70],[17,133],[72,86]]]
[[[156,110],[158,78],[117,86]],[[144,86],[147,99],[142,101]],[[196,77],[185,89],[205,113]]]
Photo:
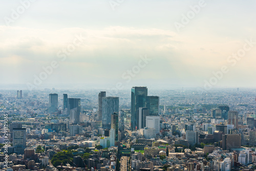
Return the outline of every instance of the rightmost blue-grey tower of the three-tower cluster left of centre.
[[[71,116],[71,112],[72,112],[72,116]],[[81,112],[81,99],[80,98],[68,98],[67,114],[70,115],[71,122],[78,123],[80,121],[80,119],[79,119],[80,112]]]

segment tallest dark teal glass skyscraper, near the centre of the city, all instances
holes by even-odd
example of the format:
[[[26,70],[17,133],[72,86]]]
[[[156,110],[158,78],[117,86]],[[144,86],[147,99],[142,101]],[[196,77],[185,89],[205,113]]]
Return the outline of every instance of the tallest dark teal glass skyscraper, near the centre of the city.
[[[146,87],[133,87],[131,96],[131,126],[132,130],[137,129],[137,110],[146,107]]]

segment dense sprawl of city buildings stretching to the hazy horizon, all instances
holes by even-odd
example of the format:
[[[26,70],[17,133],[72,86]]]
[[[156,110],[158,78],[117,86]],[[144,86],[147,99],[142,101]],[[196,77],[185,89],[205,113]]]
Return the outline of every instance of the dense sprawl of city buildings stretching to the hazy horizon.
[[[21,91],[22,98],[17,98]],[[8,127],[0,123],[0,143],[8,140],[1,152],[9,156],[5,167],[10,170],[96,167],[108,171],[111,167],[114,171],[154,171],[154,167],[169,169],[174,164],[179,171],[242,170],[241,165],[256,165],[255,94],[247,89],[200,93],[132,87],[109,97],[104,89],[3,90],[0,113],[10,123]],[[50,111],[49,106],[56,110]],[[132,118],[132,114],[137,116]]]

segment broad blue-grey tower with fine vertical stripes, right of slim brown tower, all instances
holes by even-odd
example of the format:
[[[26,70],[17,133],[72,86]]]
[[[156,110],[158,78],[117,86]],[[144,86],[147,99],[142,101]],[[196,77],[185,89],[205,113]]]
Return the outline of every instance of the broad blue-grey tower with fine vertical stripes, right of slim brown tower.
[[[111,129],[111,115],[119,113],[119,97],[102,98],[102,128]]]

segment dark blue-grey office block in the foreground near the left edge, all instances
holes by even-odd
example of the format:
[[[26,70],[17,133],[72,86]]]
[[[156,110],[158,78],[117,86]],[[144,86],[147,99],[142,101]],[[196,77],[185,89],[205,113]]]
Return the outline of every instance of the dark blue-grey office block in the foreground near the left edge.
[[[13,147],[26,148],[26,129],[25,128],[13,128]]]

